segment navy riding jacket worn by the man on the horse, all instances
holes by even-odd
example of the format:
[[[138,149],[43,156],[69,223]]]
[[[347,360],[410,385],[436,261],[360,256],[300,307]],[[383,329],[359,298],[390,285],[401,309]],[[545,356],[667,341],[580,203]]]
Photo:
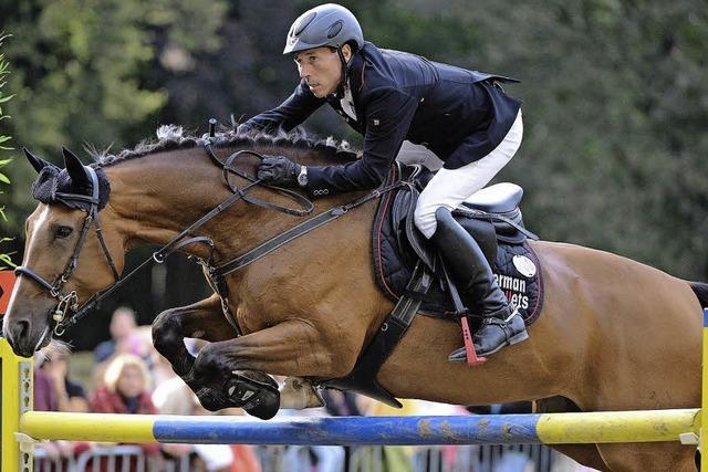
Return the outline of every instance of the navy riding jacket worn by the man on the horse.
[[[329,103],[364,136],[361,159],[308,166],[308,190],[315,196],[378,187],[404,139],[426,146],[448,169],[481,159],[503,140],[521,107],[498,85],[516,80],[371,42],[352,55],[347,66],[356,119],[343,112],[341,96],[317,98],[303,80],[280,106],[244,123],[247,128],[289,132]]]

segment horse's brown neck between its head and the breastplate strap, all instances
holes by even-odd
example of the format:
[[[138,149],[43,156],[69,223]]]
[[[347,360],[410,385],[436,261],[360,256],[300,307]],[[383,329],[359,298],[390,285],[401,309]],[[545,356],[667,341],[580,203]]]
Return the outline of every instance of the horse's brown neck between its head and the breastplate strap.
[[[221,150],[219,155],[223,158],[228,151]],[[244,160],[243,166],[250,167],[244,171],[252,175],[256,162]],[[170,241],[232,195],[221,169],[200,148],[145,156],[105,170],[112,187],[110,204],[118,216],[115,223],[125,235],[126,249]],[[232,183],[243,187],[247,182],[235,177]],[[253,188],[249,196],[293,207],[292,200],[266,188]],[[350,195],[317,200],[314,213],[354,198]],[[243,252],[302,221],[303,218],[238,201],[192,235],[211,238],[217,243],[217,255],[223,258]],[[187,248],[187,252],[199,256],[206,255],[204,251],[199,245]]]

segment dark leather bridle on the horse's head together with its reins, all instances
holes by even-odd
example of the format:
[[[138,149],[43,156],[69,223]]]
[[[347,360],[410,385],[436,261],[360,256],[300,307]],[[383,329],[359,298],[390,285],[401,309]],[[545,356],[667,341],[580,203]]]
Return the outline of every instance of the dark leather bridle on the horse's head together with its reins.
[[[174,238],[167,244],[163,245],[158,251],[154,252],[150,258],[143,261],[137,268],[135,268],[124,277],[121,277],[121,274],[118,274],[113,256],[111,255],[111,252],[108,251],[108,247],[105,243],[105,240],[103,238],[103,228],[101,225],[101,219],[98,217],[98,197],[100,196],[98,196],[98,177],[96,175],[96,171],[90,166],[83,166],[83,169],[86,172],[86,177],[88,178],[92,185],[91,196],[81,195],[81,193],[64,193],[64,192],[55,193],[55,200],[59,202],[63,202],[65,204],[69,204],[71,202],[84,203],[80,208],[82,208],[82,210],[86,212],[86,217],[84,218],[81,233],[79,235],[79,241],[76,242],[76,247],[74,248],[74,252],[71,255],[69,263],[64,268],[64,271],[52,283],[50,283],[46,279],[44,279],[42,275],[38,274],[37,272],[34,272],[32,269],[28,266],[21,265],[14,269],[15,275],[18,276],[24,275],[33,280],[40,286],[45,289],[46,292],[58,301],[56,306],[50,312],[51,314],[50,326],[54,324],[54,327],[53,327],[54,335],[56,336],[63,335],[69,326],[76,324],[79,319],[83,318],[91,311],[91,308],[96,306],[111,293],[117,290],[121,285],[123,285],[123,283],[125,283],[125,281],[131,279],[137,271],[143,269],[145,265],[153,262],[163,263],[165,262],[168,255],[173,254],[174,252],[178,251],[181,248],[185,248],[186,245],[194,244],[194,243],[207,244],[210,248],[210,251],[209,251],[209,258],[207,259],[206,264],[210,265],[214,251],[215,251],[214,241],[211,241],[209,238],[206,238],[206,237],[191,237],[188,239],[186,238],[189,234],[194,234],[194,232],[197,229],[202,227],[205,223],[207,223],[209,220],[211,220],[219,213],[223,212],[226,209],[231,207],[238,200],[244,200],[249,203],[257,204],[262,208],[272,209],[272,210],[277,210],[277,211],[281,211],[288,214],[294,214],[299,217],[310,214],[314,209],[314,204],[302,195],[289,189],[280,188],[280,187],[264,186],[261,183],[260,180],[253,177],[250,177],[239,171],[238,169],[235,169],[231,167],[231,165],[236,161],[236,159],[239,156],[252,155],[262,160],[264,157],[263,155],[256,153],[253,150],[244,149],[244,150],[233,153],[231,156],[229,156],[229,158],[225,162],[221,162],[216,157],[214,150],[211,149],[211,141],[207,137],[205,137],[205,140],[204,140],[204,148],[212,161],[223,167],[223,177],[232,195],[226,200],[223,200],[221,203],[219,203],[217,207],[215,207],[207,214],[205,214],[199,220],[197,220],[196,222],[190,224],[188,228],[186,228],[184,231],[181,231],[176,238]],[[235,186],[233,183],[231,183],[229,179],[229,176],[231,174],[238,175],[239,177],[249,181],[249,183],[243,188],[239,188]],[[247,195],[247,192],[250,189],[259,185],[273,189],[274,191],[281,195],[284,195],[285,197],[292,200],[295,200],[298,203],[301,204],[302,208],[293,209],[293,208],[282,207],[280,204],[271,203],[269,201],[264,201]],[[88,203],[87,209],[85,208],[85,203]],[[103,292],[98,292],[94,294],[83,305],[79,306],[79,296],[76,295],[76,291],[71,291],[69,293],[65,293],[62,291],[62,289],[64,284],[69,281],[69,277],[72,275],[73,271],[76,269],[79,255],[81,253],[81,250],[84,247],[86,237],[92,227],[95,227],[96,237],[98,238],[98,242],[101,243],[101,249],[103,251],[103,254],[108,263],[108,266],[111,268],[111,272],[113,273],[114,283],[111,287],[106,289]]]

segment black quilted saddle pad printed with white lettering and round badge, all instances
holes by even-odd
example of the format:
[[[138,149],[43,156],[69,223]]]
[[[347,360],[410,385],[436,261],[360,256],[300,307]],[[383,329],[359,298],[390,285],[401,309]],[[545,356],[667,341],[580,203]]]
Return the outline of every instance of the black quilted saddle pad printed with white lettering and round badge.
[[[431,248],[420,249],[421,245],[428,245],[421,234],[413,238],[414,241],[406,235],[406,224],[410,233],[416,199],[415,190],[409,188],[398,193],[389,192],[383,196],[376,212],[373,230],[374,272],[379,289],[393,302],[397,302],[405,292],[415,264],[420,259],[418,253],[425,255],[426,252],[433,252]],[[507,298],[519,310],[527,325],[533,323],[543,304],[543,280],[539,260],[527,238],[520,232],[511,234],[509,227],[496,225],[489,219],[480,219],[469,211],[455,211],[452,214],[485,251]],[[414,250],[413,245],[418,245],[418,250]],[[429,260],[427,263],[430,265]],[[440,273],[436,273],[436,276],[437,281],[428,291],[420,313],[450,317],[455,313],[451,297],[442,282],[444,276]]]

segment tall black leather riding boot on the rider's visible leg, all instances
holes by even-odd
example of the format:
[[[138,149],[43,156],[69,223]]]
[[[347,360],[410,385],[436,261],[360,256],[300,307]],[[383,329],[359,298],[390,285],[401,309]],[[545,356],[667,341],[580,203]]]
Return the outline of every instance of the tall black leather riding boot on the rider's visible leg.
[[[460,292],[467,295],[467,303],[480,307],[482,324],[472,337],[477,355],[488,356],[527,339],[529,335],[523,318],[507,302],[477,241],[455,221],[449,210],[439,208],[435,217],[437,229],[430,241],[455,276]],[[466,358],[464,347],[448,356],[451,361],[465,361]]]

